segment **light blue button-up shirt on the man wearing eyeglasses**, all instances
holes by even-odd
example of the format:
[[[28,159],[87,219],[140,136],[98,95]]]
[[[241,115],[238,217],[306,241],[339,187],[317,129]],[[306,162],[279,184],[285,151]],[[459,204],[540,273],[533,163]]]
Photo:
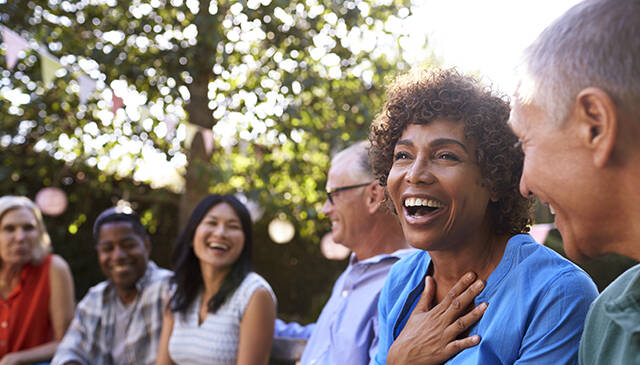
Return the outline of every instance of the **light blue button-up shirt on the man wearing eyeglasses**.
[[[276,321],[276,337],[309,337],[301,364],[369,364],[378,348],[378,297],[391,265],[414,249],[357,261],[333,286],[331,298],[315,324]]]

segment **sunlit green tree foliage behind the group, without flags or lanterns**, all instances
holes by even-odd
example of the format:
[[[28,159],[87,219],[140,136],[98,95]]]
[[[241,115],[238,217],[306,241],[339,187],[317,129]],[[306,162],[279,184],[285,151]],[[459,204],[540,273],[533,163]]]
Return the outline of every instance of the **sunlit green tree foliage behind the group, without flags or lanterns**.
[[[281,310],[311,319],[344,267],[327,263],[318,248],[329,231],[318,212],[330,155],[365,138],[380,110],[385,79],[406,67],[402,30],[396,28],[409,5],[0,0],[2,25],[65,66],[53,85],[44,85],[36,51],[27,50],[12,70],[0,57],[2,193],[33,197],[40,184],[76,194],[71,212],[54,222],[69,238],[73,224],[85,236],[90,232],[102,204],[142,198],[129,178],[152,182],[143,172],[153,159],[162,162],[157,169],[177,167],[184,176],[183,219],[207,192],[243,191],[265,208],[255,227],[256,267],[281,297]],[[80,72],[97,82],[84,105]],[[115,114],[112,90],[125,97],[125,108]],[[174,133],[170,120],[182,125]],[[186,143],[186,123],[213,129],[212,153],[199,135]],[[28,168],[40,171],[29,174],[28,184],[22,171],[27,166],[16,162],[26,156]],[[175,230],[175,206],[153,196],[156,203],[139,206],[151,212],[150,222]],[[171,204],[175,199],[171,195]],[[281,213],[296,226],[294,244],[267,238],[268,222]]]

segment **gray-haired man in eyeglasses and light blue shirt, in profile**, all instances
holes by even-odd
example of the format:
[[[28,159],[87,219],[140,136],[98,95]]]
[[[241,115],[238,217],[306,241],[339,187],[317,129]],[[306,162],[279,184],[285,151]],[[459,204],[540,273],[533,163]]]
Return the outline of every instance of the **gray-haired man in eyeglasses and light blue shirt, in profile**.
[[[336,281],[318,321],[307,326],[276,320],[276,337],[308,338],[300,363],[369,364],[378,347],[378,296],[407,245],[384,188],[373,177],[369,143],[357,142],[331,161],[327,200],[334,242],[351,249],[349,266]]]

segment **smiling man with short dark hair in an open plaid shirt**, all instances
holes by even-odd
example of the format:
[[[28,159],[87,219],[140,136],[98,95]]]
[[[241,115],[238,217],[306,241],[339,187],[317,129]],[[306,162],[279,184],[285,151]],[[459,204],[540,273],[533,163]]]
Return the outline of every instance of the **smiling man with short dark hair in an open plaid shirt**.
[[[107,280],[78,304],[52,364],[154,364],[171,272],[149,261],[149,236],[130,208],[102,212],[93,236]]]

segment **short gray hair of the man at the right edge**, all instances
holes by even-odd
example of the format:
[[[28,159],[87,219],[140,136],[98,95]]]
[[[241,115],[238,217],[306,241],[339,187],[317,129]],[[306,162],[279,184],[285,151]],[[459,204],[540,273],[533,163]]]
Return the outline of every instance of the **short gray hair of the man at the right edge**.
[[[518,90],[561,124],[578,93],[605,91],[622,110],[640,111],[640,0],[586,0],[547,27],[524,53]]]

